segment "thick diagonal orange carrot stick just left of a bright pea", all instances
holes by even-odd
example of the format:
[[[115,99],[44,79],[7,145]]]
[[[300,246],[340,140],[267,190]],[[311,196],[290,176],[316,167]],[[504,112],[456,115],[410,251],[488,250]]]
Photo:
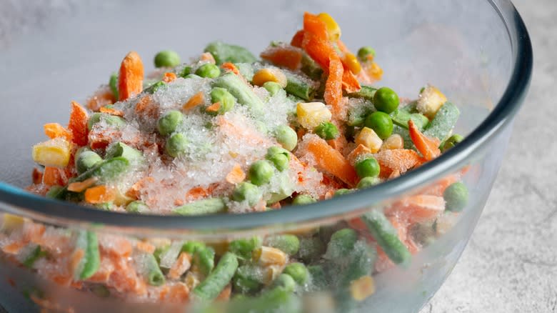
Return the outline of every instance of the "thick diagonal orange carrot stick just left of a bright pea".
[[[356,184],[358,180],[356,170],[339,151],[329,146],[326,141],[317,136],[311,138],[308,141],[307,149],[313,154],[318,167],[341,179],[349,186]]]

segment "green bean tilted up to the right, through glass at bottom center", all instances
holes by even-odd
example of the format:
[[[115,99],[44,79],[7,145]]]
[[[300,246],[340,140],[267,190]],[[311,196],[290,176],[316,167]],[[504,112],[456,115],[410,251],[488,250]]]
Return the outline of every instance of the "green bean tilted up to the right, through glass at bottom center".
[[[219,296],[224,287],[229,284],[236,269],[238,269],[238,259],[236,259],[236,255],[226,252],[219,260],[219,264],[216,265],[214,271],[194,288],[194,296],[202,301],[211,301],[215,299]]]

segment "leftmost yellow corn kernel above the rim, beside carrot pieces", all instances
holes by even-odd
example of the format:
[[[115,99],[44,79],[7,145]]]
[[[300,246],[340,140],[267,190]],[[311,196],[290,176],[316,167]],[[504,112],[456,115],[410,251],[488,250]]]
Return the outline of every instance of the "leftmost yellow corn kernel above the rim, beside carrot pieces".
[[[45,167],[66,167],[71,144],[64,138],[51,139],[33,146],[33,161]]]

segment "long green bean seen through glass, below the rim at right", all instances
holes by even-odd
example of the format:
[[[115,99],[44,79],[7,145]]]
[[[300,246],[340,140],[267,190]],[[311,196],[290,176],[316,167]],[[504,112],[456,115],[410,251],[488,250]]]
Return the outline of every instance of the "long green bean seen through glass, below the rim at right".
[[[406,267],[411,259],[408,248],[398,239],[398,232],[382,212],[373,210],[362,216],[377,244],[395,264]]]

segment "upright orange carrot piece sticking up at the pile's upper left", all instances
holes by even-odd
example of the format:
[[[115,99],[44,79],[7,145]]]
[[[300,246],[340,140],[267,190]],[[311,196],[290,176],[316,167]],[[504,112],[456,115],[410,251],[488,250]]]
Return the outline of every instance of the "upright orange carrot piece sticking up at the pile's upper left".
[[[136,51],[127,54],[120,64],[118,92],[120,101],[141,94],[143,90],[144,69],[143,61]]]

